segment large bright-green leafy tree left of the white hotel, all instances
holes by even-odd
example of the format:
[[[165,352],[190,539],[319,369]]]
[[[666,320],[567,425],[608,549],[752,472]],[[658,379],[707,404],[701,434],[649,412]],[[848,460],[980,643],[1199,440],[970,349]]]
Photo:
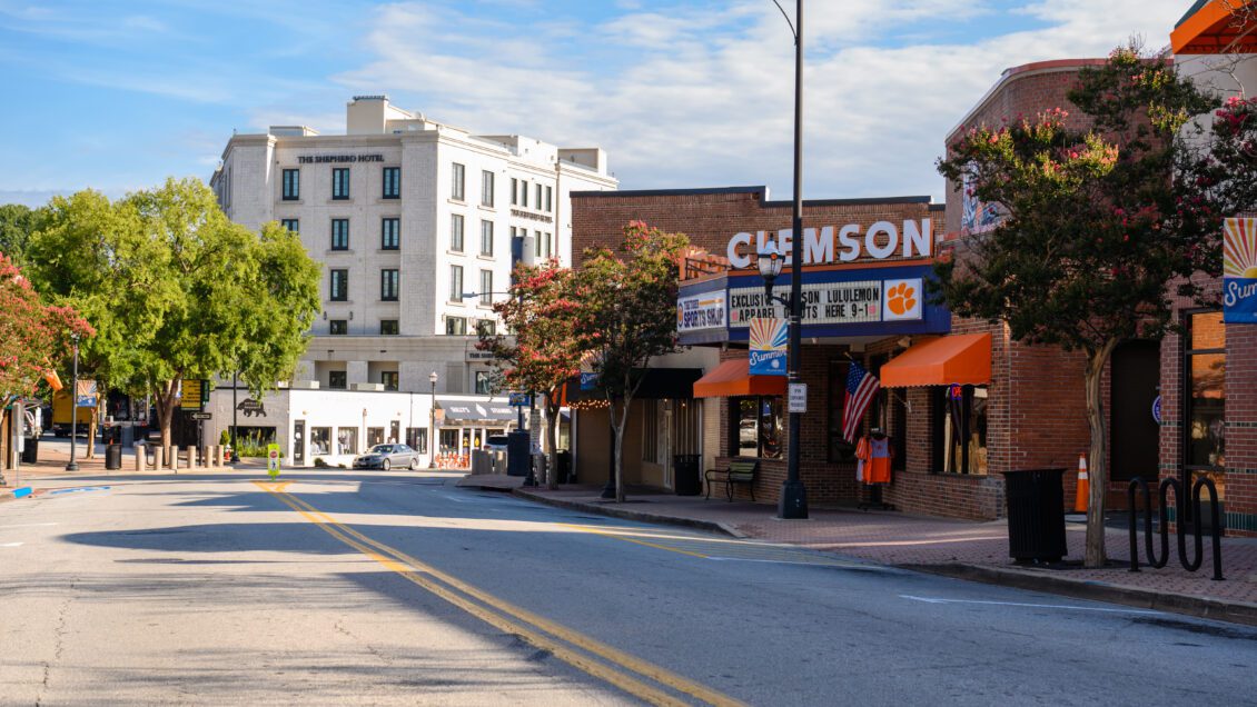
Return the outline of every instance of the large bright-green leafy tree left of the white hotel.
[[[298,237],[233,224],[199,180],[114,203],[57,197],[30,245],[39,281],[98,323],[84,369],[151,393],[163,446],[184,379],[239,370],[261,394],[292,373],[319,311],[319,266]]]

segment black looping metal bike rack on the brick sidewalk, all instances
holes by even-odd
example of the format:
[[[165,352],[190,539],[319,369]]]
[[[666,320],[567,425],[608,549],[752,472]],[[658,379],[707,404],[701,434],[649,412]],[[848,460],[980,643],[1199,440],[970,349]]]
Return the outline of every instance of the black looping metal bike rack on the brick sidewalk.
[[[1168,495],[1169,490],[1174,490],[1174,505],[1178,509],[1177,519],[1178,522],[1178,555],[1179,563],[1187,571],[1195,571],[1200,569],[1204,563],[1204,537],[1200,535],[1200,490],[1209,490],[1209,516],[1213,521],[1213,579],[1223,580],[1222,576],[1222,526],[1218,509],[1218,487],[1214,486],[1212,478],[1200,477],[1192,485],[1192,497],[1190,500],[1183,497],[1183,485],[1179,483],[1178,478],[1168,477],[1163,478],[1158,486],[1158,497],[1160,500],[1160,532],[1161,536],[1161,553],[1160,558],[1156,556],[1153,549],[1153,495],[1148,487],[1148,482],[1141,477],[1135,477],[1130,480],[1130,486],[1126,488],[1126,499],[1130,506],[1130,571],[1139,571],[1139,531],[1136,530],[1135,516],[1139,514],[1138,506],[1135,505],[1135,490],[1143,491],[1144,496],[1144,548],[1148,551],[1148,565],[1153,569],[1161,569],[1169,561],[1170,555],[1170,536],[1169,536],[1169,502]],[[1187,502],[1192,502],[1192,507],[1195,510],[1195,522],[1193,529],[1195,530],[1195,558],[1193,561],[1187,559],[1187,532],[1188,525],[1183,517],[1183,511],[1187,509]]]

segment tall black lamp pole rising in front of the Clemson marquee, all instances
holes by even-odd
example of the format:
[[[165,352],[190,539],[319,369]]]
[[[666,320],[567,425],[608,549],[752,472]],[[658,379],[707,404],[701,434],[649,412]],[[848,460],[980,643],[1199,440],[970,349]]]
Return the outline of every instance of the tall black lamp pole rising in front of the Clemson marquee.
[[[794,9],[794,213],[791,226],[789,382],[799,382],[803,359],[803,0]],[[789,450],[786,481],[777,502],[777,517],[806,519],[807,491],[798,476],[799,426],[803,416],[789,413]]]

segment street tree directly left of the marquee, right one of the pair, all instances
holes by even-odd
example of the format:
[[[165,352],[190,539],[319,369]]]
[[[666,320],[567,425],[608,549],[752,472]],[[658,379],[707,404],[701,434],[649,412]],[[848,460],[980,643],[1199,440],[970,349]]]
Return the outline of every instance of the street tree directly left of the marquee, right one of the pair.
[[[574,335],[607,396],[615,434],[616,501],[625,500],[623,433],[650,359],[676,350],[679,262],[689,239],[642,221],[623,230],[618,252],[587,251],[577,274]]]

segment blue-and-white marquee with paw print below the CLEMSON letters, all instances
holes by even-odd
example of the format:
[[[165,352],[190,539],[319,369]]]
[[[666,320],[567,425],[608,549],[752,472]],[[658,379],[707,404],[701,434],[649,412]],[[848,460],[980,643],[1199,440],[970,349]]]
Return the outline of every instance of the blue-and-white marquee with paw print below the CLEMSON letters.
[[[803,271],[802,335],[804,338],[892,337],[945,334],[952,315],[930,304],[925,280],[929,264],[885,264],[867,267]],[[777,280],[776,295],[788,294],[789,274]],[[676,332],[683,345],[748,342],[755,319],[784,319],[781,303],[764,298],[757,271],[683,283],[676,300]]]

